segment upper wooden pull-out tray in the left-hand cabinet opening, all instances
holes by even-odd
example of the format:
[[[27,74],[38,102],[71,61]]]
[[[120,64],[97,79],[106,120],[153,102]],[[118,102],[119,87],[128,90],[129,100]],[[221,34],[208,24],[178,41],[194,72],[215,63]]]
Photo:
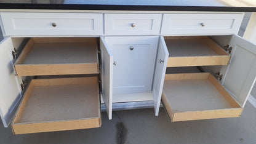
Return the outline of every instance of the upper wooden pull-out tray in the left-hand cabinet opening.
[[[17,76],[98,73],[95,38],[31,38],[15,64]]]

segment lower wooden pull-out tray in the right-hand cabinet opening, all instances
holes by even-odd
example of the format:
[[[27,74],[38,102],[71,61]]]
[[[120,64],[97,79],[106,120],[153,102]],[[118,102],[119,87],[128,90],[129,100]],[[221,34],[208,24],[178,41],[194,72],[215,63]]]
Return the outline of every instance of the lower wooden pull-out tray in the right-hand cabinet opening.
[[[171,121],[232,118],[241,106],[209,73],[166,74],[162,103]]]

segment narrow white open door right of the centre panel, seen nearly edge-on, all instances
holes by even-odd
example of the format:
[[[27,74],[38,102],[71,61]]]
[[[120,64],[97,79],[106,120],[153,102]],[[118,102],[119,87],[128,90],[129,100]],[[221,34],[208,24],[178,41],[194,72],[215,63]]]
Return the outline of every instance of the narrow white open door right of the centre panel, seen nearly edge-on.
[[[161,102],[162,87],[164,86],[164,76],[166,74],[166,66],[169,57],[169,52],[166,47],[166,42],[162,36],[159,37],[158,55],[156,57],[156,68],[154,72],[153,83],[153,99],[154,112],[158,116],[159,106]]]

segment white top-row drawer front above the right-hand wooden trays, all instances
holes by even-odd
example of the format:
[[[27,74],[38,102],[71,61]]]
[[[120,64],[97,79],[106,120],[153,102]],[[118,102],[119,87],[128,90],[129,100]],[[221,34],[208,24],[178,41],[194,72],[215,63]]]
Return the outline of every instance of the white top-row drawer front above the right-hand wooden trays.
[[[243,14],[164,14],[161,34],[238,33],[243,16]]]

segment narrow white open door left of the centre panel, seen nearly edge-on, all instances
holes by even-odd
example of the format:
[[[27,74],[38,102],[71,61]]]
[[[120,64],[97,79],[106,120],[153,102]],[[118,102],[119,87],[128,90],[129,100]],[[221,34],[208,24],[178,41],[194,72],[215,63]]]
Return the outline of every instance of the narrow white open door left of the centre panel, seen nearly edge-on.
[[[102,54],[102,97],[106,106],[108,118],[112,119],[113,55],[103,37],[100,37],[100,49]]]

